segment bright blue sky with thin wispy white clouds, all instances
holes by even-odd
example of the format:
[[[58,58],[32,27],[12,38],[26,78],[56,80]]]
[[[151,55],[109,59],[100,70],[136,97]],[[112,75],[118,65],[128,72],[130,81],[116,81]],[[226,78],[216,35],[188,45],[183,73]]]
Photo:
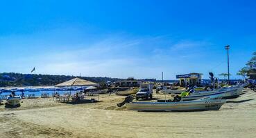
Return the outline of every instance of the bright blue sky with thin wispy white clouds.
[[[256,51],[256,1],[1,1],[0,72],[176,79]]]

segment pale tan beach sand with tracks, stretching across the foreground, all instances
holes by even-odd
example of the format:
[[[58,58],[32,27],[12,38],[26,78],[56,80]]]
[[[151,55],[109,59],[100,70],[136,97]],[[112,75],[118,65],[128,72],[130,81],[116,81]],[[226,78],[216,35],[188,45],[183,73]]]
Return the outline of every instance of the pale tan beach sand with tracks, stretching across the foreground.
[[[80,104],[23,99],[19,108],[0,106],[0,137],[256,137],[256,92],[245,90],[203,112],[130,111],[117,108],[124,97],[114,94]]]

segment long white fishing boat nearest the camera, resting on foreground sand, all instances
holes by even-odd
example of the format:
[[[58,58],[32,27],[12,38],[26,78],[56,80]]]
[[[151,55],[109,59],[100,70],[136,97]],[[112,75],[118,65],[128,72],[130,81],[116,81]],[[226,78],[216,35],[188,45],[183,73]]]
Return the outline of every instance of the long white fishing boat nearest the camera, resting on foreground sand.
[[[225,99],[198,99],[178,102],[131,102],[126,103],[128,110],[142,111],[197,111],[219,110]]]

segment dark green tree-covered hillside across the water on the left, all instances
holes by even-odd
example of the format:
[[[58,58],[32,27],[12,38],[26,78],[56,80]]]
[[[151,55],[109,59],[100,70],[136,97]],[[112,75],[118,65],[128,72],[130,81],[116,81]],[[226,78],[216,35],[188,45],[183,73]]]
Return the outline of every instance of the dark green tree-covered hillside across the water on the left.
[[[21,73],[0,73],[0,87],[6,86],[54,86],[58,83],[74,79],[74,76],[66,75],[31,75]],[[80,77],[96,83],[105,83],[106,81],[118,81],[121,79],[110,77]]]

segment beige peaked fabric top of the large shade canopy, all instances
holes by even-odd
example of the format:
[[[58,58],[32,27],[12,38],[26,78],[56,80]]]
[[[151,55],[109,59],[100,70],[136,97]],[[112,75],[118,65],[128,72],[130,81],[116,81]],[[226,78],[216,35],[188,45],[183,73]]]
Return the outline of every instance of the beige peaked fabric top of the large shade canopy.
[[[99,84],[92,81],[86,81],[85,79],[75,78],[56,85],[56,87],[65,86],[99,86]]]

